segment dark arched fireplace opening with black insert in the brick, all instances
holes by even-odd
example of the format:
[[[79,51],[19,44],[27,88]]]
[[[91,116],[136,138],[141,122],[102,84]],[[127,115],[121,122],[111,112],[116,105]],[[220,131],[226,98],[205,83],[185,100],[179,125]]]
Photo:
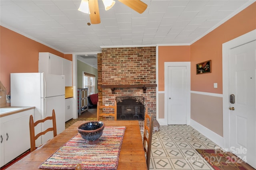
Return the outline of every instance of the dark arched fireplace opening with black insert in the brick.
[[[117,120],[144,120],[144,97],[116,97]]]

